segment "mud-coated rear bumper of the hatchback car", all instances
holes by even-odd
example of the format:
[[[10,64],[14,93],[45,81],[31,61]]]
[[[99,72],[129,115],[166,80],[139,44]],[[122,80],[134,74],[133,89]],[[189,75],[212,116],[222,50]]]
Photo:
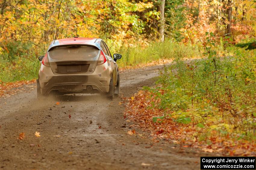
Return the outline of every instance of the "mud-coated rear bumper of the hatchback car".
[[[63,93],[107,93],[111,79],[111,69],[108,64],[96,67],[90,74],[56,75],[50,67],[41,66],[39,71],[39,83],[41,93],[49,94],[51,91]],[[91,91],[86,88],[92,87]]]

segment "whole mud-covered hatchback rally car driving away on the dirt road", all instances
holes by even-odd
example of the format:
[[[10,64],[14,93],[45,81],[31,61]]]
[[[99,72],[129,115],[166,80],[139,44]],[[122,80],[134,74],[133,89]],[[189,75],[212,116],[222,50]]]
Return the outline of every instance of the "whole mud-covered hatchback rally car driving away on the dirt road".
[[[37,97],[49,94],[100,93],[113,99],[119,95],[117,59],[99,38],[65,38],[52,41],[39,57]]]

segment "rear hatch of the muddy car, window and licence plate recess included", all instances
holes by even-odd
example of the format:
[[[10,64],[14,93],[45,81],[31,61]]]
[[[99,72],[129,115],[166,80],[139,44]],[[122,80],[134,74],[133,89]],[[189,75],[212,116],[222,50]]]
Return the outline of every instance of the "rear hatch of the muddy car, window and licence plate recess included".
[[[54,74],[93,73],[100,50],[89,45],[57,46],[48,51],[48,59]]]

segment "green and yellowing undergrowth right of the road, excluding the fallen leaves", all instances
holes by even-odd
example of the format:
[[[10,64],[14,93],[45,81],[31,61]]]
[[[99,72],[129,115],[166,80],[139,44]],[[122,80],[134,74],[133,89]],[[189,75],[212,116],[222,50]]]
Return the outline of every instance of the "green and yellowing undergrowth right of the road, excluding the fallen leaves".
[[[175,53],[174,62],[160,73],[151,92],[160,99],[155,106],[179,123],[215,130],[234,139],[253,140],[256,131],[256,51],[227,47],[233,56],[219,57],[214,34],[206,33],[207,58],[185,61]]]

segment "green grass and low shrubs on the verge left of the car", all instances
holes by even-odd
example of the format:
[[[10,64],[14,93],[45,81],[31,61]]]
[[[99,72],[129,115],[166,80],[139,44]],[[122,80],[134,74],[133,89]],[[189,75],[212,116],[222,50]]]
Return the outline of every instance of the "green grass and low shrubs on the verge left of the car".
[[[38,75],[40,62],[38,54],[41,49],[32,48],[31,43],[21,41],[4,42],[5,51],[0,55],[0,81],[14,82],[35,79]]]

